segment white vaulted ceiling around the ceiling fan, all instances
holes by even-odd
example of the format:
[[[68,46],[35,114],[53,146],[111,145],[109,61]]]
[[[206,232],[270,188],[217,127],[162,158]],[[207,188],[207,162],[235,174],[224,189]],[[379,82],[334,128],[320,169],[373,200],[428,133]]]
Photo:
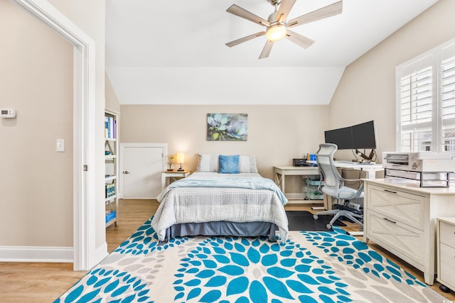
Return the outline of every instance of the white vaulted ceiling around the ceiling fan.
[[[334,2],[297,0],[288,20]],[[311,47],[284,39],[259,60],[264,35],[225,43],[264,27],[226,9],[267,20],[268,0],[109,0],[107,76],[121,104],[328,104],[346,66],[436,2],[344,0],[341,14],[292,28]]]

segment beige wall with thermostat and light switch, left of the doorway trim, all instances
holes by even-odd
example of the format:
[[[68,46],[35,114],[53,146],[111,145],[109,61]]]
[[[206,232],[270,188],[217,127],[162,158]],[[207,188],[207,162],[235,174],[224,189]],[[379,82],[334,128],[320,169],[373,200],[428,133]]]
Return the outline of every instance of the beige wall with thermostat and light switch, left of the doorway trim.
[[[0,37],[0,246],[71,247],[73,46],[6,0]]]

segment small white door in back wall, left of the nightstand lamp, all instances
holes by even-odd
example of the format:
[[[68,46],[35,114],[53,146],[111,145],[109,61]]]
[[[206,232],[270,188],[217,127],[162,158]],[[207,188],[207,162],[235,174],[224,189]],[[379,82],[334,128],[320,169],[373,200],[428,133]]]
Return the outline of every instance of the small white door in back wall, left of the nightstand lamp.
[[[124,199],[156,199],[166,167],[166,143],[122,143],[120,180]]]

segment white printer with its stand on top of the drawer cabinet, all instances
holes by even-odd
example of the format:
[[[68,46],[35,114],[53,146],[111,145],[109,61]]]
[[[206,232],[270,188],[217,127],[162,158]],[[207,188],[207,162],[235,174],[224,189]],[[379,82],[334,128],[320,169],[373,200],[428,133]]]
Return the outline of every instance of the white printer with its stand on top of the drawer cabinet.
[[[419,181],[420,187],[449,187],[455,160],[450,152],[383,152],[385,177]]]

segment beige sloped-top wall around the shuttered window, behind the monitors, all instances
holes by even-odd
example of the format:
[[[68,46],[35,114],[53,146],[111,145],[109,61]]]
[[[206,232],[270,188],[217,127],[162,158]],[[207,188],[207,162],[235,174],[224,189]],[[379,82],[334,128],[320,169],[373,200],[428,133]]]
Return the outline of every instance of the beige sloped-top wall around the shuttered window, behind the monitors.
[[[378,155],[395,147],[395,67],[455,37],[455,1],[440,0],[349,65],[330,104],[331,128],[375,120]],[[337,152],[349,158],[350,151]]]

